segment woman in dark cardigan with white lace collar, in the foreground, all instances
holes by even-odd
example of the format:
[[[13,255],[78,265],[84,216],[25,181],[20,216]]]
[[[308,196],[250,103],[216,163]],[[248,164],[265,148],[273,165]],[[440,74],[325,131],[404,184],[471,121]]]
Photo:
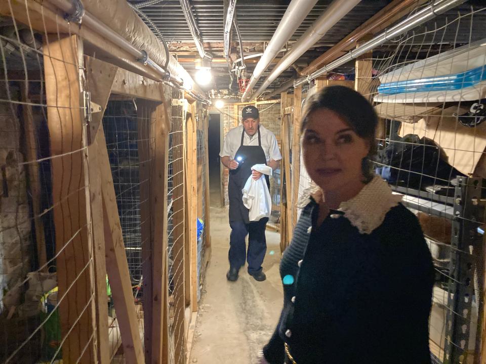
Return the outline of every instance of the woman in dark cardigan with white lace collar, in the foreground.
[[[377,120],[344,86],[306,103],[315,185],[280,263],[284,308],[261,363],[430,363],[434,268],[417,218],[371,172]]]

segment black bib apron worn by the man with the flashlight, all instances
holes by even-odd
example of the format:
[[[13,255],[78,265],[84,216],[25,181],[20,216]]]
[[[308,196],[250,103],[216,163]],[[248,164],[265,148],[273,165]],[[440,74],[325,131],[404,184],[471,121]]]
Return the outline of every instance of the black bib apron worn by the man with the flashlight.
[[[267,164],[267,158],[262,148],[260,137],[260,127],[258,127],[258,146],[244,146],[245,128],[241,133],[241,145],[236,151],[234,159],[241,157],[236,169],[229,170],[228,180],[228,197],[229,197],[229,222],[249,223],[249,209],[243,204],[243,193],[241,190],[245,187],[248,177],[252,175],[252,167],[255,164]],[[267,186],[270,189],[270,179],[265,175]]]

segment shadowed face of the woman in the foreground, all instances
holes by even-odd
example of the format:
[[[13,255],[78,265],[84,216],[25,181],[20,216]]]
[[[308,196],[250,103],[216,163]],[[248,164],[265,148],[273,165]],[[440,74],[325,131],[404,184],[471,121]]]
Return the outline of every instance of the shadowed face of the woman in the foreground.
[[[308,115],[303,135],[304,163],[309,176],[324,191],[361,184],[361,161],[370,144],[334,111],[318,109]]]

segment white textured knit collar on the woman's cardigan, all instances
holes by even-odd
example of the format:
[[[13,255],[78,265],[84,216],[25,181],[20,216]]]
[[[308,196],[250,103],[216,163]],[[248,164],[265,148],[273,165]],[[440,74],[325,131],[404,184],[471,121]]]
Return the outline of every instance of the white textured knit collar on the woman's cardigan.
[[[319,203],[322,196],[322,191],[312,182],[304,191],[298,207],[307,205],[310,197]],[[388,183],[375,175],[356,196],[341,202],[338,211],[344,212],[344,217],[358,229],[360,234],[371,234],[383,223],[387,212],[398,205],[401,198],[402,195],[394,194]]]

